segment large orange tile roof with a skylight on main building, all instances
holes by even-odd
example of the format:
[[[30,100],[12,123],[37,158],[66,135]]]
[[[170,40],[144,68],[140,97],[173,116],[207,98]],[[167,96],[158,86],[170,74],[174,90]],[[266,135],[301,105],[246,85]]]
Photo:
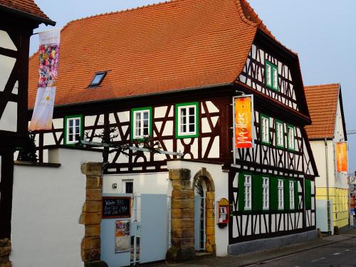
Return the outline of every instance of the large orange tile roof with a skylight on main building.
[[[271,34],[245,0],[173,0],[71,21],[61,31],[56,105],[232,83],[258,27]],[[88,88],[103,70],[103,83]],[[35,54],[28,108],[37,80]]]

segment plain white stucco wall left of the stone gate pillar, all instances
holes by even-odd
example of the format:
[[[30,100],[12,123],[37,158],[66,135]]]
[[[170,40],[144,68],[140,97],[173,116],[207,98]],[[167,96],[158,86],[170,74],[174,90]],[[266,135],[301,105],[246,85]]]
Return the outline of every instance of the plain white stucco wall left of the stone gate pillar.
[[[61,167],[15,165],[11,219],[13,266],[83,266],[79,217],[85,201],[81,162],[100,162],[100,152],[53,150]]]

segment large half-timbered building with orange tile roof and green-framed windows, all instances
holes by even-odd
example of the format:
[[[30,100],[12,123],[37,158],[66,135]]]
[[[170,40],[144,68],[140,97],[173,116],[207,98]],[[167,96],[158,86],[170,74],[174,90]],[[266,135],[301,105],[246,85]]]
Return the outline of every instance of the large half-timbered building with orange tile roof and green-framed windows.
[[[30,113],[37,61],[30,58]],[[209,177],[207,166],[216,166],[221,177],[212,179],[215,197],[206,197],[212,214],[205,226],[218,223],[218,197],[229,199],[228,228],[212,230],[216,239],[222,231],[229,238],[215,242],[206,231],[206,250],[315,229],[318,172],[305,133],[310,116],[298,56],[245,0],[168,1],[71,21],[61,31],[57,88],[53,129],[33,132],[41,161],[51,147],[101,142],[103,130],[115,128],[119,145],[149,136],[182,158],[104,153],[105,173],[168,177],[167,165],[180,160]],[[253,95],[255,145],[233,152],[232,100],[242,94]],[[142,182],[125,181],[117,188],[123,193]],[[214,190],[211,179],[205,182],[201,188]],[[226,189],[218,196],[219,184]]]

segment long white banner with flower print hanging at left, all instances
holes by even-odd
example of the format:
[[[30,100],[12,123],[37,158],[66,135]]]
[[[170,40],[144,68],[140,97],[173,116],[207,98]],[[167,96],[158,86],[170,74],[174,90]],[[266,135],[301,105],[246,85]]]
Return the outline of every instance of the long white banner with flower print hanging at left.
[[[28,130],[52,129],[54,99],[56,97],[61,29],[39,33],[39,75],[36,103]]]

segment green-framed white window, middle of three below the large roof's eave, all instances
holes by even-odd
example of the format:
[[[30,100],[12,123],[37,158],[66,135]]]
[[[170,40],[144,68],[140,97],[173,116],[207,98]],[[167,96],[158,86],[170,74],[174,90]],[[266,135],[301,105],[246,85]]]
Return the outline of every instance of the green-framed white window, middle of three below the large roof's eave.
[[[145,140],[146,137],[152,137],[152,107],[132,108],[130,122],[131,140]]]

